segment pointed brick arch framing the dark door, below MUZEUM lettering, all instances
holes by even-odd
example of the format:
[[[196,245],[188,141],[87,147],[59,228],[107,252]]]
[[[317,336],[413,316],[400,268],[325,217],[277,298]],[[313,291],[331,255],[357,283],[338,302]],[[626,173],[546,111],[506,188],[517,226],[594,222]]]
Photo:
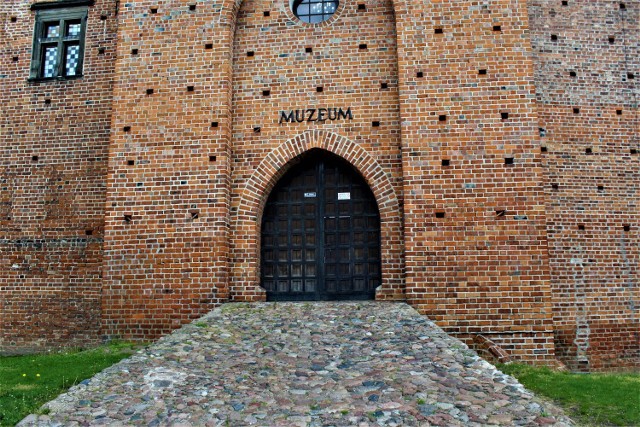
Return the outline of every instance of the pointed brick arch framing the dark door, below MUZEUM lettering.
[[[380,164],[355,142],[324,130],[309,130],[284,142],[262,160],[243,186],[232,212],[232,301],[264,300],[260,287],[260,223],[271,190],[303,153],[319,148],[342,157],[365,179],[380,211],[382,285],[376,299],[404,299],[402,213],[398,197]]]

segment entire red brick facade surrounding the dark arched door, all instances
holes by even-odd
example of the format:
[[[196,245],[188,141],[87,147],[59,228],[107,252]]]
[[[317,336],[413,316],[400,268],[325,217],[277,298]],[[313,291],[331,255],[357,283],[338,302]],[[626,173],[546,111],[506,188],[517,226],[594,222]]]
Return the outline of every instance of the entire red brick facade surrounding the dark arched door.
[[[308,25],[96,0],[84,77],[30,82],[32,3],[0,6],[3,352],[264,299],[262,210],[316,149],[378,203],[377,299],[516,359],[638,366],[637,3],[354,0]],[[307,108],[352,116],[282,120]]]

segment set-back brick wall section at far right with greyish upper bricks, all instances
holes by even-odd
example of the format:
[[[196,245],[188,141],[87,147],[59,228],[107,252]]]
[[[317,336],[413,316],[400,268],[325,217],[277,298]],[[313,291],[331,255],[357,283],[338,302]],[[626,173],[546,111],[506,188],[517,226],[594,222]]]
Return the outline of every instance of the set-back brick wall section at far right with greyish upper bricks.
[[[637,367],[640,5],[536,0],[529,14],[558,356]]]

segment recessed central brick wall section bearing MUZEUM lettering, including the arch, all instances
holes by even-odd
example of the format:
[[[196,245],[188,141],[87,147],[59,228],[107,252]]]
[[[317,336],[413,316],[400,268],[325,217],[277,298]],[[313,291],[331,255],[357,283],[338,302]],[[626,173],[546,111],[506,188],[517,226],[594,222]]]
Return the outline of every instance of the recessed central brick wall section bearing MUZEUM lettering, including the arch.
[[[281,111],[307,108],[350,108],[353,120],[279,123]],[[370,0],[365,10],[343,2],[328,21],[309,25],[293,17],[286,2],[243,1],[233,45],[232,120],[232,298],[264,293],[258,268],[262,207],[296,157],[314,147],[347,159],[371,186],[381,211],[378,298],[404,298],[391,2]]]

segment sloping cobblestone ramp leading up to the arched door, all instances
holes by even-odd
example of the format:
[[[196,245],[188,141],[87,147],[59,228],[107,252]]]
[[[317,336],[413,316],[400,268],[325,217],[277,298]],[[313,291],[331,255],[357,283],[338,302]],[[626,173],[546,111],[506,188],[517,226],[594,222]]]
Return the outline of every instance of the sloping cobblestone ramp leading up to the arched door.
[[[226,304],[20,426],[571,425],[403,303]]]

